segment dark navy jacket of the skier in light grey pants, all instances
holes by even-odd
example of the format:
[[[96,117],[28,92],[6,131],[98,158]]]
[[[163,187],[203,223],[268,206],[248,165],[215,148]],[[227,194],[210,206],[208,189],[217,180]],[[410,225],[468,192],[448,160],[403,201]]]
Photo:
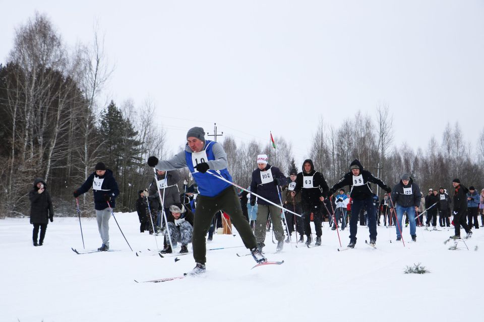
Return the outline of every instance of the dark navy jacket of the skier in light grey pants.
[[[94,189],[93,183],[96,182],[96,185],[100,184],[100,187],[96,187]],[[92,193],[94,196],[94,208],[96,210],[103,210],[107,208],[107,202],[104,199],[104,195],[108,195],[111,199],[109,204],[111,208],[116,206],[115,198],[119,195],[119,189],[117,188],[117,183],[114,177],[112,176],[112,171],[107,169],[104,173],[104,176],[98,177],[96,172],[93,172],[83,183],[83,185],[77,189],[79,194],[83,194],[92,189]]]

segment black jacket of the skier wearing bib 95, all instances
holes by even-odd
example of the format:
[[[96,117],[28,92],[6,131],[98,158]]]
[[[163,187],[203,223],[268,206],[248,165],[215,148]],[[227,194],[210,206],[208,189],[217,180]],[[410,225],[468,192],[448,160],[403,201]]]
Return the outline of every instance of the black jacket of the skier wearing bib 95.
[[[363,170],[363,166],[359,163],[358,159],[354,159],[350,164],[351,166],[356,165],[359,168],[359,176],[354,177],[353,173],[350,171],[343,176],[331,189],[330,193],[335,193],[339,188],[344,186],[350,186],[350,197],[354,200],[364,200],[367,198],[373,198],[373,191],[370,188],[370,182],[375,183],[380,186],[385,191],[390,190],[390,187],[385,185],[383,181],[374,177],[370,171]],[[355,180],[356,182],[353,182]]]

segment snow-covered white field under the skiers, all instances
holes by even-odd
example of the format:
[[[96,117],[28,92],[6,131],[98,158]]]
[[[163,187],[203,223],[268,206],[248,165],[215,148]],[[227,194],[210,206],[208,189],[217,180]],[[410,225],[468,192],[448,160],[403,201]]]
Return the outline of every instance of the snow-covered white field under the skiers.
[[[207,273],[164,283],[136,283],[182,275],[192,255],[148,256],[155,239],[139,233],[136,213],[113,218],[110,248],[119,252],[77,255],[82,250],[78,218],[54,218],[44,246],[33,247],[29,218],[0,220],[0,321],[456,321],[482,320],[484,229],[474,230],[469,251],[443,244],[453,230],[417,227],[417,242],[395,242],[394,227],[378,227],[377,248],[365,245],[368,228],[358,226],[354,250],[338,252],[338,237],[323,227],[321,247],[267,254],[282,265],[251,270],[245,248],[207,252]],[[86,250],[101,239],[94,219],[82,218]],[[343,247],[348,231],[340,231]],[[158,244],[162,245],[161,237]],[[390,239],[393,240],[390,243]],[[207,248],[243,245],[240,237],[214,235]],[[267,234],[266,253],[275,250]],[[462,245],[463,246],[463,245]],[[477,250],[474,250],[475,247]],[[191,245],[189,250],[191,250]],[[429,274],[404,274],[421,263]]]

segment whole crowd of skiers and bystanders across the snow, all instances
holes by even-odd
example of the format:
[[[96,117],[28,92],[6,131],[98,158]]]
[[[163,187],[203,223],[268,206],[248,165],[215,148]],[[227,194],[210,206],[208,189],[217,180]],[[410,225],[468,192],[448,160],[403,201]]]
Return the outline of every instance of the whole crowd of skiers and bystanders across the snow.
[[[412,240],[416,240],[416,220],[418,222],[423,220],[419,218],[422,197],[420,189],[408,174],[403,174],[399,183],[392,189],[365,170],[357,159],[349,165],[349,172],[329,188],[323,174],[315,170],[311,159],[304,161],[301,172],[298,173],[292,169],[289,178],[286,178],[279,168],[269,164],[267,155],[260,154],[257,157],[257,169],[252,173],[250,191],[243,189],[244,192],[239,196],[234,188],[238,186],[232,182],[232,177],[227,170],[227,156],[222,145],[206,140],[205,132],[201,127],[188,130],[187,142],[182,151],[166,160],[150,156],[147,164],[155,168],[156,179],[153,179],[147,189],[139,191],[137,211],[140,231],[147,229],[150,234],[156,233],[161,222],[165,222],[162,251],[164,253],[171,253],[177,242],[181,243],[180,253],[187,253],[187,246],[191,241],[196,262],[191,274],[205,272],[206,235],[210,229],[213,229],[214,215],[220,211],[229,217],[245,247],[250,250],[257,263],[267,261],[263,248],[269,217],[277,240],[277,251],[283,248],[284,234],[287,234],[286,241],[290,241],[294,230],[300,235],[299,241],[304,241],[306,236],[306,244],[310,245],[313,241],[311,221],[314,222],[315,245],[321,245],[322,222],[325,216],[331,218],[333,229],[338,228],[340,221],[341,229],[344,229],[348,215],[352,214],[349,216],[348,248],[354,248],[356,244],[359,214],[362,212],[366,212],[367,215],[370,231],[369,244],[372,246],[375,246],[377,240],[378,210],[380,214],[382,212],[385,214],[385,225],[387,218],[390,220],[393,217],[389,223],[395,224],[397,240],[402,237],[404,214],[407,215],[410,224]],[[182,168],[189,169],[198,188],[195,216],[192,212],[193,202],[192,205],[190,204],[191,194],[183,194],[184,199],[188,199],[187,203],[180,202],[177,187],[180,178],[179,173],[174,170]],[[371,189],[371,183],[380,186],[386,192],[380,204],[378,198],[375,199],[376,195]],[[427,224],[432,223],[434,227],[436,226],[436,214],[439,211],[441,225],[449,226],[449,209],[452,205],[455,229],[453,238],[460,238],[461,225],[467,233],[466,237],[470,237],[472,231],[466,219],[469,218],[469,224],[473,222],[475,228],[479,227],[477,214],[478,209],[482,213],[484,208],[484,189],[479,196],[474,187],[467,189],[459,179],[454,179],[452,185],[454,187],[452,200],[442,188],[439,191],[432,190],[432,194],[429,193],[427,196],[425,200],[428,212]],[[345,186],[349,187],[347,194],[343,189]],[[35,246],[42,245],[47,218],[50,221],[53,218],[52,203],[45,187],[42,180],[35,180],[29,196],[32,204],[31,223],[34,224]],[[73,192],[73,195],[77,198],[90,188],[93,189],[96,218],[102,239],[102,246],[98,250],[107,251],[109,250],[108,220],[115,207],[115,198],[119,190],[112,172],[101,162],[96,165],[95,172],[84,184]],[[249,209],[243,210],[241,204],[247,205],[247,208],[257,206],[254,231],[250,225],[254,217],[252,215],[249,217]],[[166,216],[164,220],[160,214]],[[379,217],[380,215],[378,215],[378,222]],[[285,232],[281,223],[282,218],[286,223]],[[39,228],[41,234],[37,244]]]

